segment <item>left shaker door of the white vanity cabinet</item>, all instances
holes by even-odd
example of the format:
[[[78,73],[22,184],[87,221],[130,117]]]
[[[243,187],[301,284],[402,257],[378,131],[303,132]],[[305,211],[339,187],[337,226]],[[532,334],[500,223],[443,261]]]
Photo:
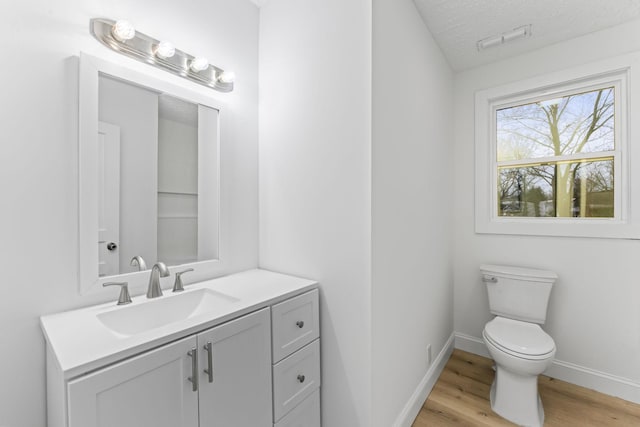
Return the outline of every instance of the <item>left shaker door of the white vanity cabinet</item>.
[[[189,337],[70,381],[69,427],[197,427]]]

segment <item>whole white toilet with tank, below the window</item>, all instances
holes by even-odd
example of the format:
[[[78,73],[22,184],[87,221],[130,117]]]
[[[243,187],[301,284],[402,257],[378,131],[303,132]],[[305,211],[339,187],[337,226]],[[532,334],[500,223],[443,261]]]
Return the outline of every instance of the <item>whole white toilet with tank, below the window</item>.
[[[546,320],[549,295],[558,276],[546,270],[500,265],[481,265],[480,271],[489,308],[496,315],[482,331],[496,363],[491,409],[515,424],[542,426],[538,375],[553,362],[556,345],[540,325]]]

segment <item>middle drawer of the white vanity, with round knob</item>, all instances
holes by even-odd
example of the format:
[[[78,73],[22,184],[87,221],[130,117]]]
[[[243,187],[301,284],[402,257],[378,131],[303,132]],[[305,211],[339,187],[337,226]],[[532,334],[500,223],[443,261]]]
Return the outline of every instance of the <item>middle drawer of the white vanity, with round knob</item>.
[[[280,420],[320,387],[320,340],[273,367],[273,418]]]

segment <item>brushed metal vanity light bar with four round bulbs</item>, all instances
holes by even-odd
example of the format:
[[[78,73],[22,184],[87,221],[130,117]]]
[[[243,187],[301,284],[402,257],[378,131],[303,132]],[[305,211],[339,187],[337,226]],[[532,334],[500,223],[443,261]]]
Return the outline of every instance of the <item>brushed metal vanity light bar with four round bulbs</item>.
[[[210,65],[206,58],[191,56],[169,42],[136,31],[127,21],[93,18],[90,30],[98,41],[123,55],[220,92],[233,90],[233,72]]]

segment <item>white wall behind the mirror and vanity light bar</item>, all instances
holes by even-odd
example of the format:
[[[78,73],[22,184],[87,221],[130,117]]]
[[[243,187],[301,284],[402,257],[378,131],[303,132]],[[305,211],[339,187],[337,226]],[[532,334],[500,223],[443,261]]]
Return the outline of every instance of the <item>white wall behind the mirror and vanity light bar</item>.
[[[239,0],[30,0],[3,7],[6,60],[0,68],[0,425],[45,425],[44,342],[38,317],[98,301],[78,295],[77,64],[85,50],[156,76],[168,76],[111,53],[89,34],[92,17],[126,18],[237,73],[236,90],[176,84],[226,103],[222,138],[222,230],[225,272],[257,265],[258,10]],[[73,333],[73,331],[69,331]]]

